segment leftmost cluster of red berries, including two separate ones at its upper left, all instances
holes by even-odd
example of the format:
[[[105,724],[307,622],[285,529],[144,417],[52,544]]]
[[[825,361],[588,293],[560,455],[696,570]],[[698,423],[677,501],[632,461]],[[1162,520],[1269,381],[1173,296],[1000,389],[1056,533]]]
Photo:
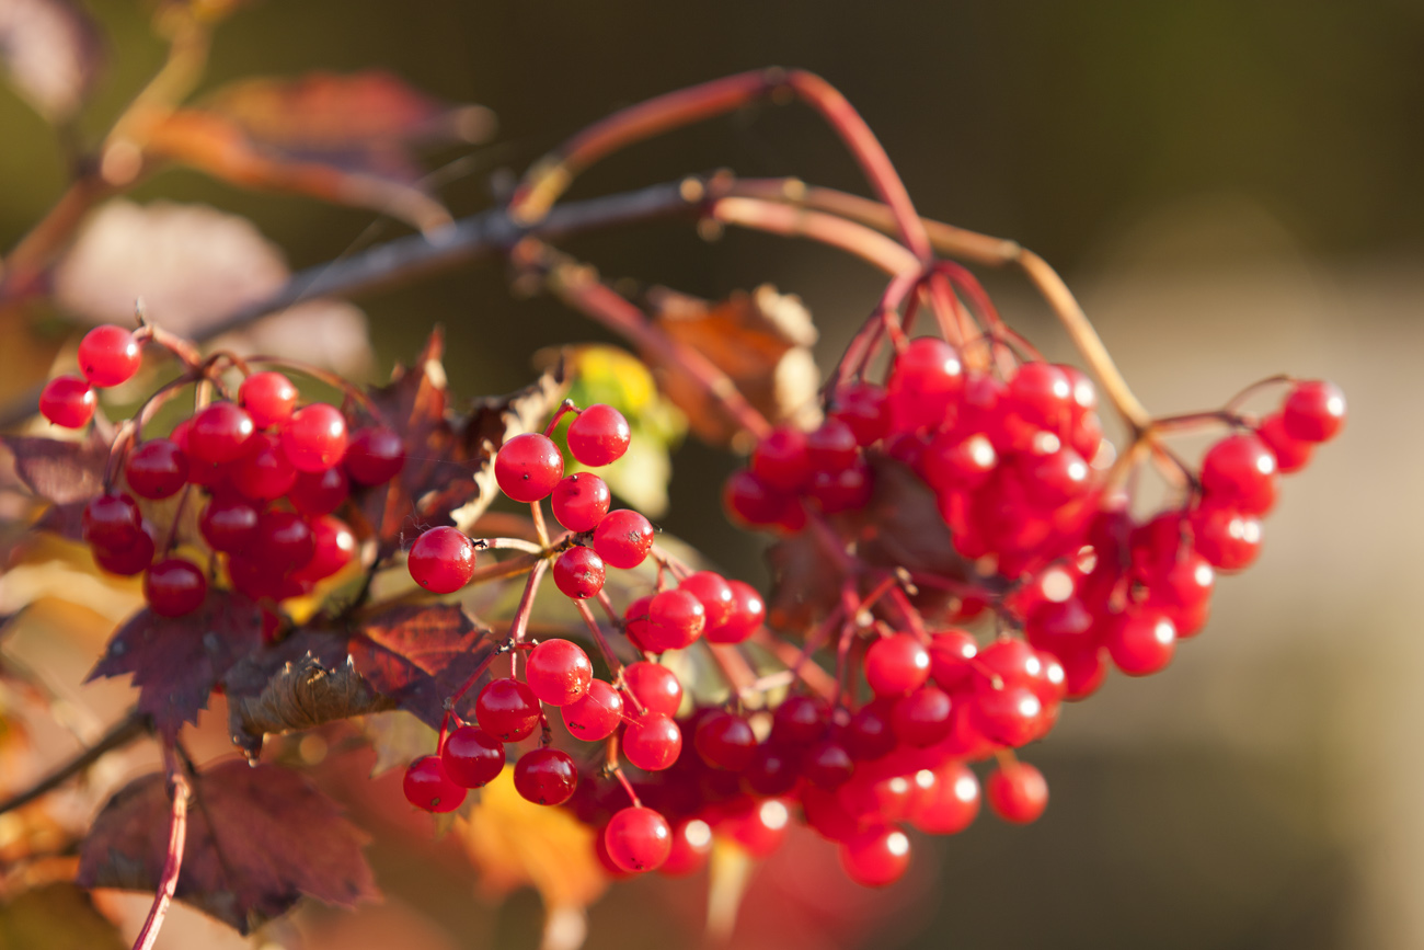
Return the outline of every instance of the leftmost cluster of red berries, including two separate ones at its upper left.
[[[80,363],[94,385],[128,379],[137,359],[132,335],[117,326],[91,330],[80,346]],[[404,464],[404,443],[380,424],[349,432],[336,406],[298,402],[286,376],[258,372],[242,380],[236,402],[199,409],[168,437],[141,440],[135,432],[134,440],[117,443],[122,457],[111,470],[121,474],[121,486],[110,484],[83,513],[84,540],[98,565],[142,574],[150,608],[165,617],[195,611],[212,578],[224,577],[253,600],[281,601],[342,570],[356,555],[356,536],[333,513],[353,483],[393,479]],[[93,414],[91,399],[83,413],[54,406],[47,402],[44,414],[60,424],[83,426]],[[164,513],[174,524],[182,506],[202,506],[198,531],[211,550],[204,565],[172,555],[177,528],[159,538],[140,503],[175,496],[177,506]]]

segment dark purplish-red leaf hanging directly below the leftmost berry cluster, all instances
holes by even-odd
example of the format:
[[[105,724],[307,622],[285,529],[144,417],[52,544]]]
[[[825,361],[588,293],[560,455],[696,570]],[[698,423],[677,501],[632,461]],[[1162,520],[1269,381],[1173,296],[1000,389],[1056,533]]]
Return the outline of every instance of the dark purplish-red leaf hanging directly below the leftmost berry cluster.
[[[208,705],[224,674],[262,645],[262,611],[239,594],[211,591],[187,617],[141,610],[124,624],[88,678],[132,674],[138,711],[174,736]]]

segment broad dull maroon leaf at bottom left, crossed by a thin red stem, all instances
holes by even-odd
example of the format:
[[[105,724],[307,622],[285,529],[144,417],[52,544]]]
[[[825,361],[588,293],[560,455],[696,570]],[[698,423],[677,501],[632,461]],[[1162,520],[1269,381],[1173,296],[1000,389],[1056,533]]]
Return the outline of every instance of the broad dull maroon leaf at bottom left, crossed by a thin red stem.
[[[192,792],[178,900],[246,934],[302,896],[342,907],[377,897],[366,836],[302,775],[231,759],[194,776]],[[78,883],[154,890],[169,808],[162,775],[114,795],[84,839]]]

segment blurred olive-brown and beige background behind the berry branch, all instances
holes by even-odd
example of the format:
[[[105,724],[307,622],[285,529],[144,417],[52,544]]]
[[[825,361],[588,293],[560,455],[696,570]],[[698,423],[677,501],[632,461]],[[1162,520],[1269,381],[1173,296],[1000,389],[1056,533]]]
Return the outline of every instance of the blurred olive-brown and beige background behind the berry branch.
[[[164,46],[137,4],[91,11],[110,63],[84,128],[101,131]],[[1155,412],[1219,406],[1290,372],[1341,385],[1350,423],[1290,480],[1259,564],[1222,580],[1210,625],[1172,668],[1109,678],[1027,752],[1052,789],[1041,822],[984,818],[926,839],[911,879],[886,894],[847,897],[809,872],[792,880],[790,859],[773,859],[736,946],[1424,946],[1424,443],[1408,434],[1424,409],[1424,6],[269,0],[221,28],[204,88],[382,67],[488,107],[498,132],[487,144],[434,157],[460,161],[440,188],[459,215],[614,108],[766,64],[840,87],[923,214],[1052,262]],[[571,197],[721,167],[864,191],[809,110],[765,105],[638,145]],[[0,91],[0,246],[53,204],[64,168],[53,130]],[[187,171],[132,198],[242,215],[293,269],[404,232]],[[796,293],[820,330],[822,367],[883,286],[823,248],[743,232],[708,242],[688,222],[567,246],[608,276],[706,298],[763,282]],[[1072,357],[1022,282],[984,276],[1011,323]],[[373,377],[439,322],[466,395],[523,385],[540,348],[607,339],[554,301],[511,295],[493,262],[359,303]],[[662,526],[760,581],[760,541],[712,501],[733,461],[689,440]],[[345,922],[303,912],[305,946],[377,946],[377,934],[426,950],[537,943],[531,893],[503,907],[476,900],[443,865],[389,842],[373,850],[387,903]],[[803,866],[832,855],[793,845]],[[592,907],[587,946],[695,943],[705,890],[703,879],[617,886]],[[182,926],[168,946],[245,944]]]

